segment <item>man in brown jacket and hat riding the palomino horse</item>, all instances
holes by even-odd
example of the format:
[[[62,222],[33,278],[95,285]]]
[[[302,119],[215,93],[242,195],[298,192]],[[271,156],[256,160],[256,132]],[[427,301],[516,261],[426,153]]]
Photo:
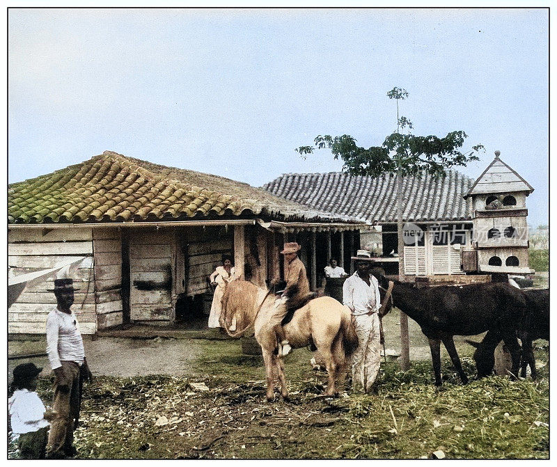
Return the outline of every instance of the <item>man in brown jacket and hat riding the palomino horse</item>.
[[[306,297],[310,293],[309,280],[308,276],[306,275],[306,267],[297,255],[300,249],[301,246],[299,246],[299,244],[297,244],[296,242],[291,242],[285,243],[283,251],[281,251],[281,254],[284,255],[285,259],[284,278],[286,280],[286,287],[282,293],[281,299],[277,301],[277,305],[284,304],[287,301],[293,303],[298,299]],[[284,315],[286,315],[288,308],[292,307],[283,307]],[[276,340],[278,342],[278,355],[288,355],[292,347],[290,347],[290,343],[285,337],[282,322],[281,324],[277,324],[276,326],[274,326],[274,331],[276,333]]]

